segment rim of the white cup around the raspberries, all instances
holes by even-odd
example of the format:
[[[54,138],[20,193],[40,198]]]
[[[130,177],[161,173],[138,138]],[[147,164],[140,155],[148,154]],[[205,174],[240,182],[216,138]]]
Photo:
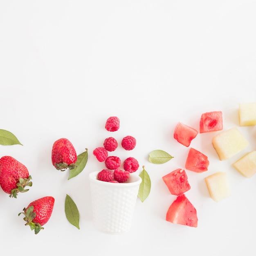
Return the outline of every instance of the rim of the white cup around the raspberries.
[[[89,179],[91,182],[94,182],[96,184],[101,184],[101,186],[116,186],[116,187],[129,187],[129,186],[137,186],[141,184],[142,179],[139,175],[135,173],[130,173],[130,177],[126,182],[123,183],[115,183],[115,182],[105,182],[97,179],[99,171],[93,171],[89,173]]]

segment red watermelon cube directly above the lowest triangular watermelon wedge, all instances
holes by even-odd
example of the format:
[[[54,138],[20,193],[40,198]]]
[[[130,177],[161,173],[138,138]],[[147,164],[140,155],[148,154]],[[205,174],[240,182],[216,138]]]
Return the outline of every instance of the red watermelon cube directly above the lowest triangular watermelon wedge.
[[[185,170],[178,168],[162,177],[172,195],[180,195],[188,191],[191,187]]]

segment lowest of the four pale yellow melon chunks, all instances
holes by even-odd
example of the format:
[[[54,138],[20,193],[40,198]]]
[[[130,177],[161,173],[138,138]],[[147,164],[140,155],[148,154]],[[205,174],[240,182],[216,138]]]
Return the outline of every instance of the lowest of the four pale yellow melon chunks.
[[[231,195],[227,173],[213,173],[212,175],[205,177],[204,180],[207,184],[210,196],[215,202],[219,202]]]

